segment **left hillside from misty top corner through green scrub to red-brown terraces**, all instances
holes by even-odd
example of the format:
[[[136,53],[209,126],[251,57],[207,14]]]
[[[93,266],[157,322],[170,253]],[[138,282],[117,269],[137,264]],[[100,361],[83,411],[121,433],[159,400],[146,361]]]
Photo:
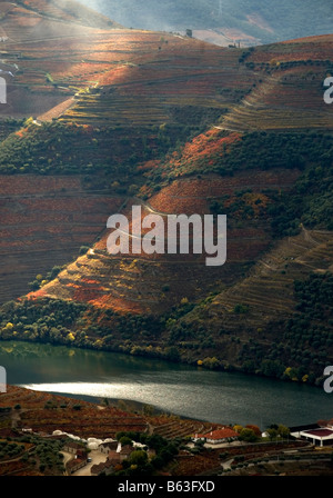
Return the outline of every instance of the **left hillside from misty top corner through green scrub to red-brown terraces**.
[[[132,183],[135,188],[138,182],[138,189],[144,181],[133,171],[138,161],[175,147],[178,140],[218,119],[226,100],[236,102],[239,97],[225,99],[216,90],[221,78],[230,86],[236,78],[236,57],[231,51],[120,29],[83,8],[75,10],[74,3],[3,2],[0,7],[3,70],[12,72],[8,103],[0,106],[0,113],[38,118],[28,119],[23,128],[21,120],[1,121],[1,172],[24,175],[24,179],[2,181],[2,252],[11,255],[0,272],[4,301],[26,293],[29,281],[36,275],[44,277],[52,262],[63,265],[81,245],[93,243],[117,209],[113,196],[124,196]],[[184,88],[178,94],[180,86]],[[54,122],[58,117],[62,124]],[[38,180],[27,173],[49,177]],[[51,177],[68,173],[84,178]],[[61,187],[53,189],[56,183]],[[17,191],[24,192],[27,200],[18,199]],[[26,221],[31,228],[22,236],[20,225]],[[10,279],[8,269],[14,273]]]

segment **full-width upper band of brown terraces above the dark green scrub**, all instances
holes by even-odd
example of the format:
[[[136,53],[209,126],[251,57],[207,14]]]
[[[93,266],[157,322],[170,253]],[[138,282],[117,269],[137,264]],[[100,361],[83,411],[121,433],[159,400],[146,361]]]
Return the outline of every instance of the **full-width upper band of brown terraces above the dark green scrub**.
[[[26,3],[3,4],[2,61],[12,77],[2,116],[97,127],[204,119],[236,131],[332,127],[323,101],[332,72],[330,34],[254,50],[221,48],[97,22],[83,7]]]

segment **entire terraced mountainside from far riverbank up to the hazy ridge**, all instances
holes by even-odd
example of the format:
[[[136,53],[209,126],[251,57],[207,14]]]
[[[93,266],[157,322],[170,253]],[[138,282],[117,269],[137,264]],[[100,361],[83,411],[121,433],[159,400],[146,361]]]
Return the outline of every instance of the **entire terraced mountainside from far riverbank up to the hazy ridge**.
[[[331,3],[88,3],[102,13],[0,3],[1,338],[319,384],[333,359]],[[228,215],[226,263],[110,256],[108,217],[138,203]]]

